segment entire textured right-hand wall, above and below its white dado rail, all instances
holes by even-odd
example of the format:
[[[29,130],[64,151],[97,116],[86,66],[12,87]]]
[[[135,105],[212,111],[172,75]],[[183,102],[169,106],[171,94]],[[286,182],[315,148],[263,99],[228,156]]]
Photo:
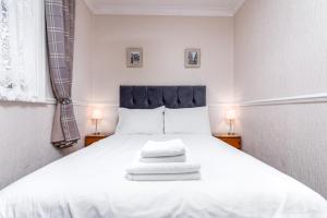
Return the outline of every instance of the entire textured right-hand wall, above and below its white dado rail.
[[[234,24],[234,97],[243,105],[244,150],[325,197],[326,10],[323,0],[247,0]]]

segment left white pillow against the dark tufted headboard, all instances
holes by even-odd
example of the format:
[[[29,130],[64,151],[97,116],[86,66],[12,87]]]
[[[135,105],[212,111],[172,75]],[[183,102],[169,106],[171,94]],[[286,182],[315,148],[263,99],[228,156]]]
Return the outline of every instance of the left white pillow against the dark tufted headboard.
[[[155,109],[118,109],[119,134],[164,134],[165,107]]]

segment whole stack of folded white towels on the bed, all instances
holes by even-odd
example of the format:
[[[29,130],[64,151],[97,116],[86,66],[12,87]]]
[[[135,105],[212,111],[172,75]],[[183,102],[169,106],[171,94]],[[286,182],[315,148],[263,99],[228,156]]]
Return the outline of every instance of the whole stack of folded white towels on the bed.
[[[181,140],[148,141],[126,172],[126,178],[135,181],[201,179],[199,165],[186,155]]]

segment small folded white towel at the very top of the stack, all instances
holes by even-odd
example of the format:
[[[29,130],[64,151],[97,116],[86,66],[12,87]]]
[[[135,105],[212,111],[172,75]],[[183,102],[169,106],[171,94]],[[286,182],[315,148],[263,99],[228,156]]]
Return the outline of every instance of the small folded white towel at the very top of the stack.
[[[171,157],[185,154],[185,145],[181,140],[165,142],[148,141],[141,150],[142,157]]]

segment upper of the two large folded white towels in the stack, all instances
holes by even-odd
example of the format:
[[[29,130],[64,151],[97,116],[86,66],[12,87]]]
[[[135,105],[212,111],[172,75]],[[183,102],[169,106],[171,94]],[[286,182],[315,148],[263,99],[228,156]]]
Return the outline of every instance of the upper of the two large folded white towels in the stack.
[[[199,165],[191,161],[186,162],[156,162],[146,164],[134,161],[130,168],[126,169],[128,173],[137,174],[175,174],[175,173],[186,173],[186,172],[197,172],[199,171]]]

